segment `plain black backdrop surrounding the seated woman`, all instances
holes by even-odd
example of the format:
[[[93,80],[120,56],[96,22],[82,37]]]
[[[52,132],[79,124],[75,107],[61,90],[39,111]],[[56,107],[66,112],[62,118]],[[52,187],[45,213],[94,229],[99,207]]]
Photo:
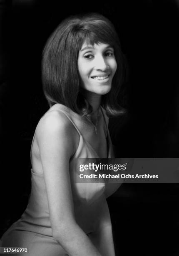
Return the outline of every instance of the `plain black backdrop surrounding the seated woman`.
[[[179,1],[0,0],[1,234],[30,193],[31,141],[48,109],[43,46],[61,20],[82,12],[112,21],[128,62],[119,97],[128,113],[109,123],[117,157],[179,156]],[[108,200],[117,255],[179,255],[178,196],[178,184],[122,184]]]

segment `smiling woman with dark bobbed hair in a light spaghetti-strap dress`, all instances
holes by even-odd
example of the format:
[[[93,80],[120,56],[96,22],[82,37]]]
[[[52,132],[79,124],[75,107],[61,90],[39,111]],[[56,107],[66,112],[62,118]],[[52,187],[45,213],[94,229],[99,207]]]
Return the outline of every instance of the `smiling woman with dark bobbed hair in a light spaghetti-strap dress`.
[[[50,109],[32,141],[30,199],[1,246],[33,256],[115,255],[106,197],[118,185],[75,183],[73,169],[79,158],[113,157],[107,115],[121,113],[122,67],[117,33],[102,15],[70,17],[52,33],[42,59]]]

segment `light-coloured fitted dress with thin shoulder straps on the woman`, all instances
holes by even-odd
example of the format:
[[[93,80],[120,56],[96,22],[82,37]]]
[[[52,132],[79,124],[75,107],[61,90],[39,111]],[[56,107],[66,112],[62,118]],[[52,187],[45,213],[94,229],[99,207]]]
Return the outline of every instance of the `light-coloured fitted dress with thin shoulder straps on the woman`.
[[[75,218],[85,233],[88,234],[93,231],[95,224],[98,221],[97,214],[99,211],[98,207],[100,207],[98,206],[98,200],[99,197],[104,195],[104,189],[107,184],[75,183],[75,159],[99,158],[99,156],[83,136],[85,131],[83,129],[84,126],[79,125],[80,115],[77,115],[64,105],[58,105],[58,110],[63,112],[72,122],[80,136],[77,151],[72,156],[72,159],[70,159],[70,179],[75,207]],[[108,119],[104,109],[100,108],[100,111],[104,122],[103,127],[107,132],[107,158],[113,158],[112,143],[107,128]],[[12,224],[12,226],[4,233],[1,238],[0,246],[27,248],[28,253],[21,253],[19,255],[67,256],[68,254],[64,251],[62,246],[60,246],[60,244],[52,237],[44,175],[43,173],[37,174],[34,169],[31,169],[31,172],[32,188],[27,208],[21,218]],[[116,190],[116,187],[112,189]]]

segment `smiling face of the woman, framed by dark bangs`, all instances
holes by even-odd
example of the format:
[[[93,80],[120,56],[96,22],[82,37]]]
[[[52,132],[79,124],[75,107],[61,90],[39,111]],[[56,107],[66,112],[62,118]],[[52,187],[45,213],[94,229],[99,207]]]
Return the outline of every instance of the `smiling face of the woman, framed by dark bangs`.
[[[78,70],[82,87],[98,95],[111,90],[112,78],[117,69],[114,49],[108,44],[82,45],[78,55]]]

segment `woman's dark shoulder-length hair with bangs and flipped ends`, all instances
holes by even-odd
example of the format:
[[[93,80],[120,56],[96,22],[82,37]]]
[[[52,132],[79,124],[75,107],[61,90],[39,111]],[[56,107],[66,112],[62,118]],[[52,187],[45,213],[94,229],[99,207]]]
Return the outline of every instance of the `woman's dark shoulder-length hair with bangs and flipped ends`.
[[[109,44],[114,49],[117,70],[112,88],[102,95],[101,105],[108,116],[117,116],[123,109],[117,95],[123,82],[124,60],[117,32],[113,24],[98,13],[70,16],[60,23],[47,40],[42,54],[42,84],[45,97],[52,106],[60,103],[80,115],[92,112],[81,92],[78,54],[84,42]]]

